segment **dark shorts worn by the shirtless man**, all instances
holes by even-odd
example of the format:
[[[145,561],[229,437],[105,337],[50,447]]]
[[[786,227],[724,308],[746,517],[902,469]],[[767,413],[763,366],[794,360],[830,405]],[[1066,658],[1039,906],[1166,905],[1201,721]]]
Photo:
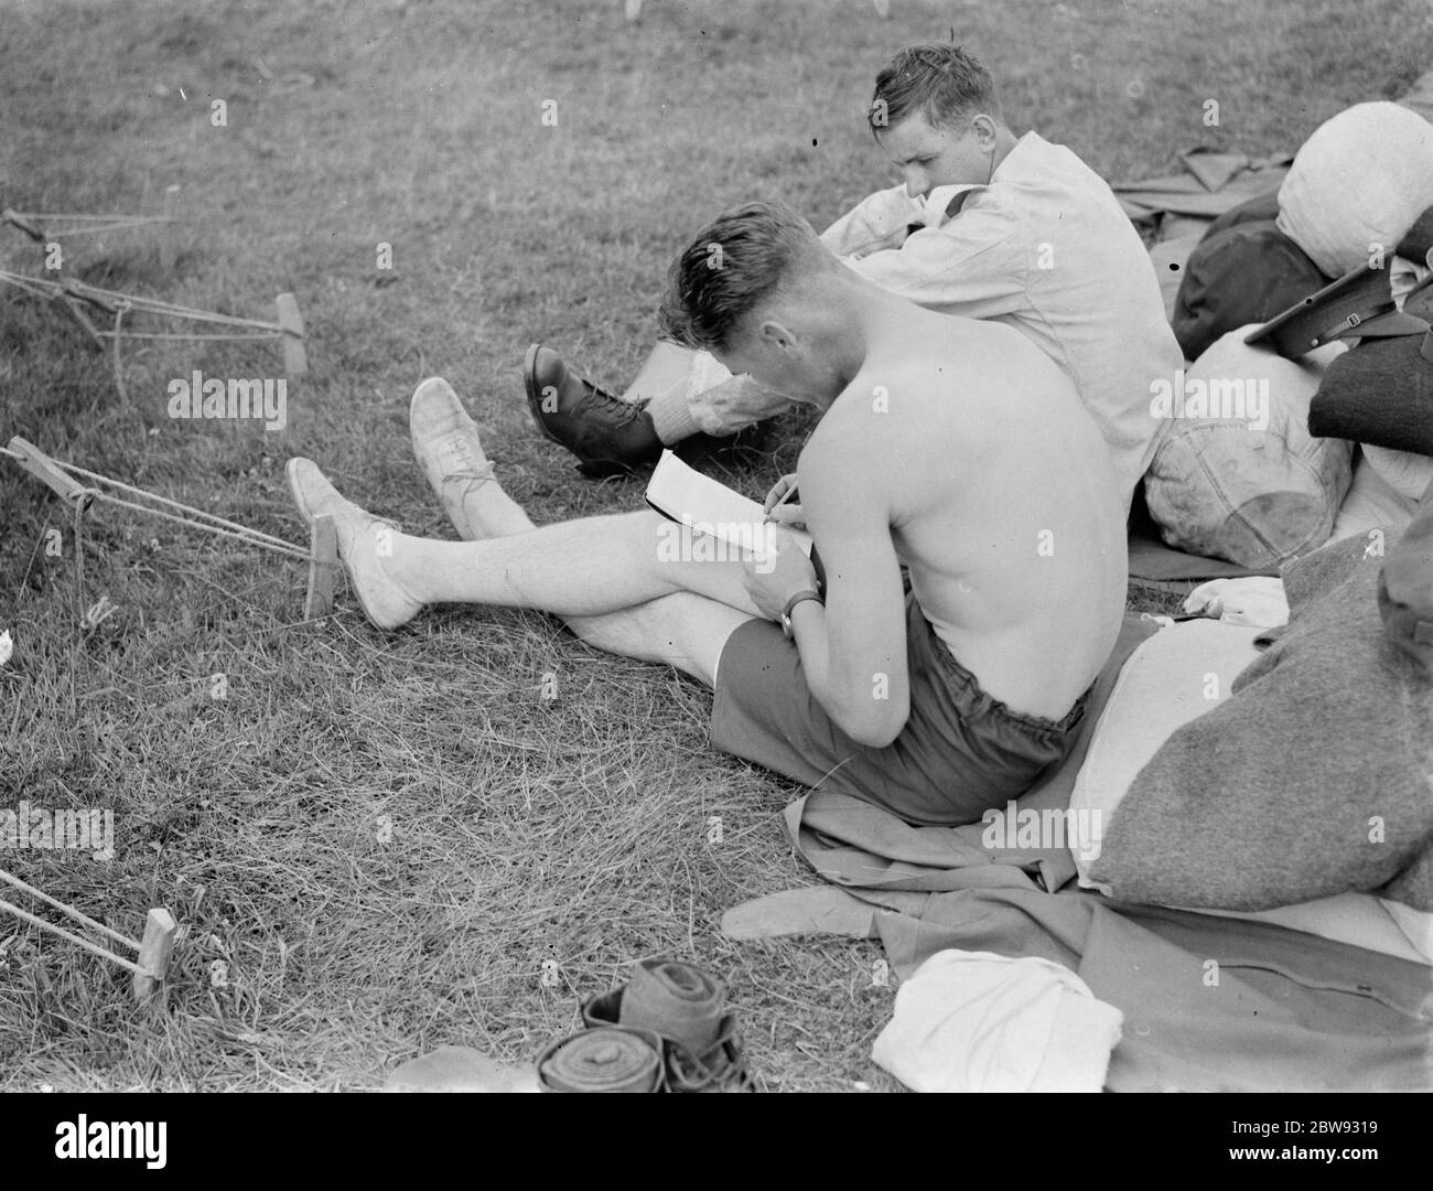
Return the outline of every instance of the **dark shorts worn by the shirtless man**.
[[[906,596],[910,718],[884,748],[853,741],[807,687],[794,642],[748,621],[722,649],[712,744],[821,790],[851,794],[907,823],[977,823],[1065,760],[1089,699],[1058,724],[1010,711],[980,689]]]

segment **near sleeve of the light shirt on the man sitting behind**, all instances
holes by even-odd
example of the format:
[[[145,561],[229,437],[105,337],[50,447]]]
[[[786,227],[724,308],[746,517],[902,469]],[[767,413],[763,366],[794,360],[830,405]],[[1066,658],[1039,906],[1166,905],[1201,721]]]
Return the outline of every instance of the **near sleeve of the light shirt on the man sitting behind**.
[[[967,206],[939,228],[911,232],[898,248],[847,264],[867,281],[923,307],[993,318],[1026,305],[1029,245],[997,206]]]

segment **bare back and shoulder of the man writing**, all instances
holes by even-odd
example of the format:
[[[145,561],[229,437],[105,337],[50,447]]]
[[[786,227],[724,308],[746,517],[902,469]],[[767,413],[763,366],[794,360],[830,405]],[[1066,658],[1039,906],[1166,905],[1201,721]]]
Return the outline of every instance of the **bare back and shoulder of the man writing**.
[[[1128,583],[1123,493],[1065,373],[1006,325],[911,310],[871,343],[798,474],[827,454],[886,506],[956,659],[1012,709],[1062,718],[1113,648]]]

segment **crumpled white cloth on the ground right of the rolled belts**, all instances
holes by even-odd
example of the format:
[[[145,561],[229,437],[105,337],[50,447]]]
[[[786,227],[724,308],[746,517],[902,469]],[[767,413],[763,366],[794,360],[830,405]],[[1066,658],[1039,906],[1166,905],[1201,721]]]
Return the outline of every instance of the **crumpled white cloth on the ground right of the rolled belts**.
[[[916,1092],[1098,1092],[1123,1015],[1048,959],[937,952],[871,1058]]]

